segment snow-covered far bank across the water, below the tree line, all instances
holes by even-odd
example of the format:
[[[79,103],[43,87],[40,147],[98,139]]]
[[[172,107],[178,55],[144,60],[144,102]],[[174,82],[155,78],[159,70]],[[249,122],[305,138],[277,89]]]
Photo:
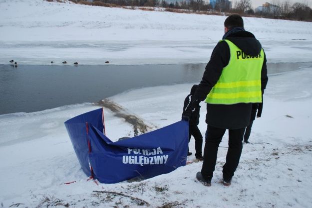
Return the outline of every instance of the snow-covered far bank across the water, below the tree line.
[[[206,63],[225,16],[0,0],[0,64]],[[269,62],[312,57],[312,22],[244,18]]]

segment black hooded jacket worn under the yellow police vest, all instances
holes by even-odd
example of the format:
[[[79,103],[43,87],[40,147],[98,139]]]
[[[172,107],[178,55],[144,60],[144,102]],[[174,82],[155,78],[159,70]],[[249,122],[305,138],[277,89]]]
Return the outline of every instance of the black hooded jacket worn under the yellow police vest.
[[[262,46],[255,36],[247,31],[238,31],[229,35],[226,39],[233,42],[247,55],[256,56],[260,53]],[[199,84],[194,99],[204,101],[219,80],[222,70],[230,61],[230,48],[225,41],[219,42],[214,48],[210,61],[208,62],[202,81]],[[264,62],[261,72],[261,90],[264,90],[268,83],[267,59]],[[211,126],[237,129],[249,124],[251,118],[252,104],[207,104],[206,123]]]

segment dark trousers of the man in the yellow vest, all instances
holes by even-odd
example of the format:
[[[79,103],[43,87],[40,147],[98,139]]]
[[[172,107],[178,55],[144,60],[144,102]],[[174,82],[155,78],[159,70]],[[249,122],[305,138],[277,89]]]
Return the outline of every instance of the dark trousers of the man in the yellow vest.
[[[206,179],[213,177],[215,170],[219,144],[226,129],[207,126],[206,144],[204,149],[204,161],[202,175]],[[226,163],[223,166],[223,179],[231,180],[240,162],[243,149],[243,136],[245,127],[240,129],[229,129],[229,148]]]

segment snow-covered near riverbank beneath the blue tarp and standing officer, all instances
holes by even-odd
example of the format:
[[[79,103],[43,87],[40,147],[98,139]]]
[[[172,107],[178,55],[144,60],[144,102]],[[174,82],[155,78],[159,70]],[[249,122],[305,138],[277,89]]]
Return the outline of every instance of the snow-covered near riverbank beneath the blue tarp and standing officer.
[[[211,187],[195,179],[201,162],[142,182],[96,184],[88,181],[72,149],[63,122],[96,109],[70,105],[34,113],[0,115],[0,202],[4,207],[310,207],[312,203],[312,68],[271,76],[264,111],[256,119],[250,141],[243,148],[230,187],[219,183],[227,151],[227,135],[220,144]],[[302,80],[296,86],[292,80]],[[162,127],[180,119],[184,98],[192,84],[133,90],[110,98],[125,111]],[[205,104],[199,128],[204,135]],[[132,126],[105,109],[109,138],[129,135]],[[132,132],[133,133],[133,132]],[[130,133],[131,134],[131,133]],[[194,139],[189,144],[194,150]],[[188,157],[194,159],[194,155]],[[71,184],[64,184],[73,182]],[[98,191],[97,193],[94,191]],[[141,206],[141,207],[146,207]]]

